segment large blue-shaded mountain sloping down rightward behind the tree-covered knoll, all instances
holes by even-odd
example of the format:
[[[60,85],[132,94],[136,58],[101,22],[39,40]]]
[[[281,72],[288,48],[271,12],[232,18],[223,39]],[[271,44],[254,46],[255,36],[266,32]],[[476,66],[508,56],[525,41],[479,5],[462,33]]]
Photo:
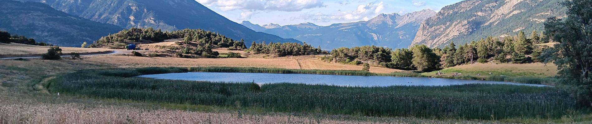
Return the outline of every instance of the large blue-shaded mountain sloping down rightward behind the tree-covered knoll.
[[[246,42],[300,42],[255,32],[194,0],[21,0],[43,2],[68,14],[123,28],[204,29]],[[250,45],[250,43],[249,43]]]

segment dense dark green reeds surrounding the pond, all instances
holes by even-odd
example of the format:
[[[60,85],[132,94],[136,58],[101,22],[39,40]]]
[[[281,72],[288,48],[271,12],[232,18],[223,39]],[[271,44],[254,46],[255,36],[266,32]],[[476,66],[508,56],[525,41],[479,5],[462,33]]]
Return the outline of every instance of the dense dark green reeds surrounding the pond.
[[[49,91],[140,102],[229,108],[242,106],[260,108],[265,112],[312,112],[329,115],[556,119],[568,113],[588,112],[588,109],[578,108],[570,93],[555,87],[472,84],[359,88],[276,83],[263,85],[262,91],[250,92],[247,90],[249,83],[134,77],[188,71],[371,75],[368,72],[350,71],[220,67],[89,70],[59,76],[50,83]],[[174,105],[172,107],[182,108]]]

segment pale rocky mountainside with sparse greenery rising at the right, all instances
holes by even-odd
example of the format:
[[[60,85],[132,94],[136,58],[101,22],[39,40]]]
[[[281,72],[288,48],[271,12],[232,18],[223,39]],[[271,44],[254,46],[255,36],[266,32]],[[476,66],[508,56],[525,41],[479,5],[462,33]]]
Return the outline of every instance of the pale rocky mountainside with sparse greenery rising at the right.
[[[552,16],[564,16],[562,0],[467,0],[445,6],[419,28],[413,43],[438,47],[466,43],[486,36],[504,37],[542,32],[543,22]]]

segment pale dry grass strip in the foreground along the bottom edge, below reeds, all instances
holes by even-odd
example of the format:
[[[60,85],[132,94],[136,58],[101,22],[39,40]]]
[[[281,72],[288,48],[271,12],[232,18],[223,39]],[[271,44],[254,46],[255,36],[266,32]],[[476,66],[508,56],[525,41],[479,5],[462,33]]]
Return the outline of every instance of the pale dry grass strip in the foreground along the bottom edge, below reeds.
[[[190,112],[185,110],[146,110],[121,106],[88,108],[76,103],[59,105],[0,106],[0,123],[497,123],[442,121],[417,118],[340,119],[339,116],[298,116],[288,114],[249,115],[239,112]]]

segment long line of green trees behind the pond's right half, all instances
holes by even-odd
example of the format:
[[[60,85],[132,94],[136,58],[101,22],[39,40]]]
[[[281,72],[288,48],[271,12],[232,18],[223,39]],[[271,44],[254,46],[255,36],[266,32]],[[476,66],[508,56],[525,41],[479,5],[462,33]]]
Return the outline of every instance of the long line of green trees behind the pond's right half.
[[[517,36],[503,39],[488,36],[487,38],[464,45],[456,46],[451,42],[445,48],[430,49],[425,45],[416,45],[410,49],[382,48],[378,46],[358,46],[354,48],[337,48],[331,51],[330,61],[359,65],[372,63],[386,68],[435,71],[456,65],[475,62],[497,61],[501,63],[539,62],[542,51],[549,48],[543,43],[545,38],[533,31],[530,38],[519,32]]]

